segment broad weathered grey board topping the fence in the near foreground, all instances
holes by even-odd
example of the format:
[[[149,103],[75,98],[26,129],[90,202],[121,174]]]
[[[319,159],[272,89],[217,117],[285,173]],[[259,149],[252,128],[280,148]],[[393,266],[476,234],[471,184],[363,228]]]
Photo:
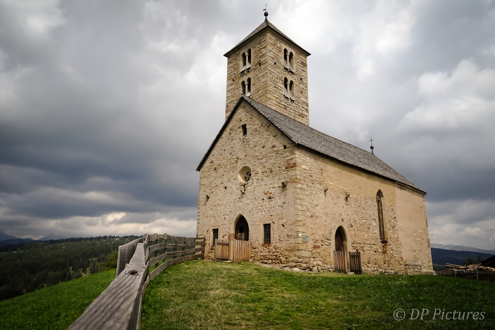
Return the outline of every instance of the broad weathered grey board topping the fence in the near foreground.
[[[69,330],[136,329],[148,269],[149,262],[145,264],[145,244],[138,243],[125,270],[86,308]],[[138,273],[131,275],[130,271]]]

